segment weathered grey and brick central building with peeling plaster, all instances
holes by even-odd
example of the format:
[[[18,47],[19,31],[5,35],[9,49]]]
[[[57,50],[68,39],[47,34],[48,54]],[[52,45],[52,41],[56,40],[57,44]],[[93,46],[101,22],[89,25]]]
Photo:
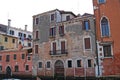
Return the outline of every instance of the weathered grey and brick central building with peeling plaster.
[[[33,16],[34,76],[95,76],[94,16],[58,9]]]

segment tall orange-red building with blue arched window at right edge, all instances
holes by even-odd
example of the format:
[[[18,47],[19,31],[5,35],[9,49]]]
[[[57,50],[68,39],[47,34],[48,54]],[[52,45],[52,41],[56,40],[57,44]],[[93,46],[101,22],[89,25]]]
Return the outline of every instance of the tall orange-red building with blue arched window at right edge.
[[[120,75],[120,0],[93,0],[98,76]]]

